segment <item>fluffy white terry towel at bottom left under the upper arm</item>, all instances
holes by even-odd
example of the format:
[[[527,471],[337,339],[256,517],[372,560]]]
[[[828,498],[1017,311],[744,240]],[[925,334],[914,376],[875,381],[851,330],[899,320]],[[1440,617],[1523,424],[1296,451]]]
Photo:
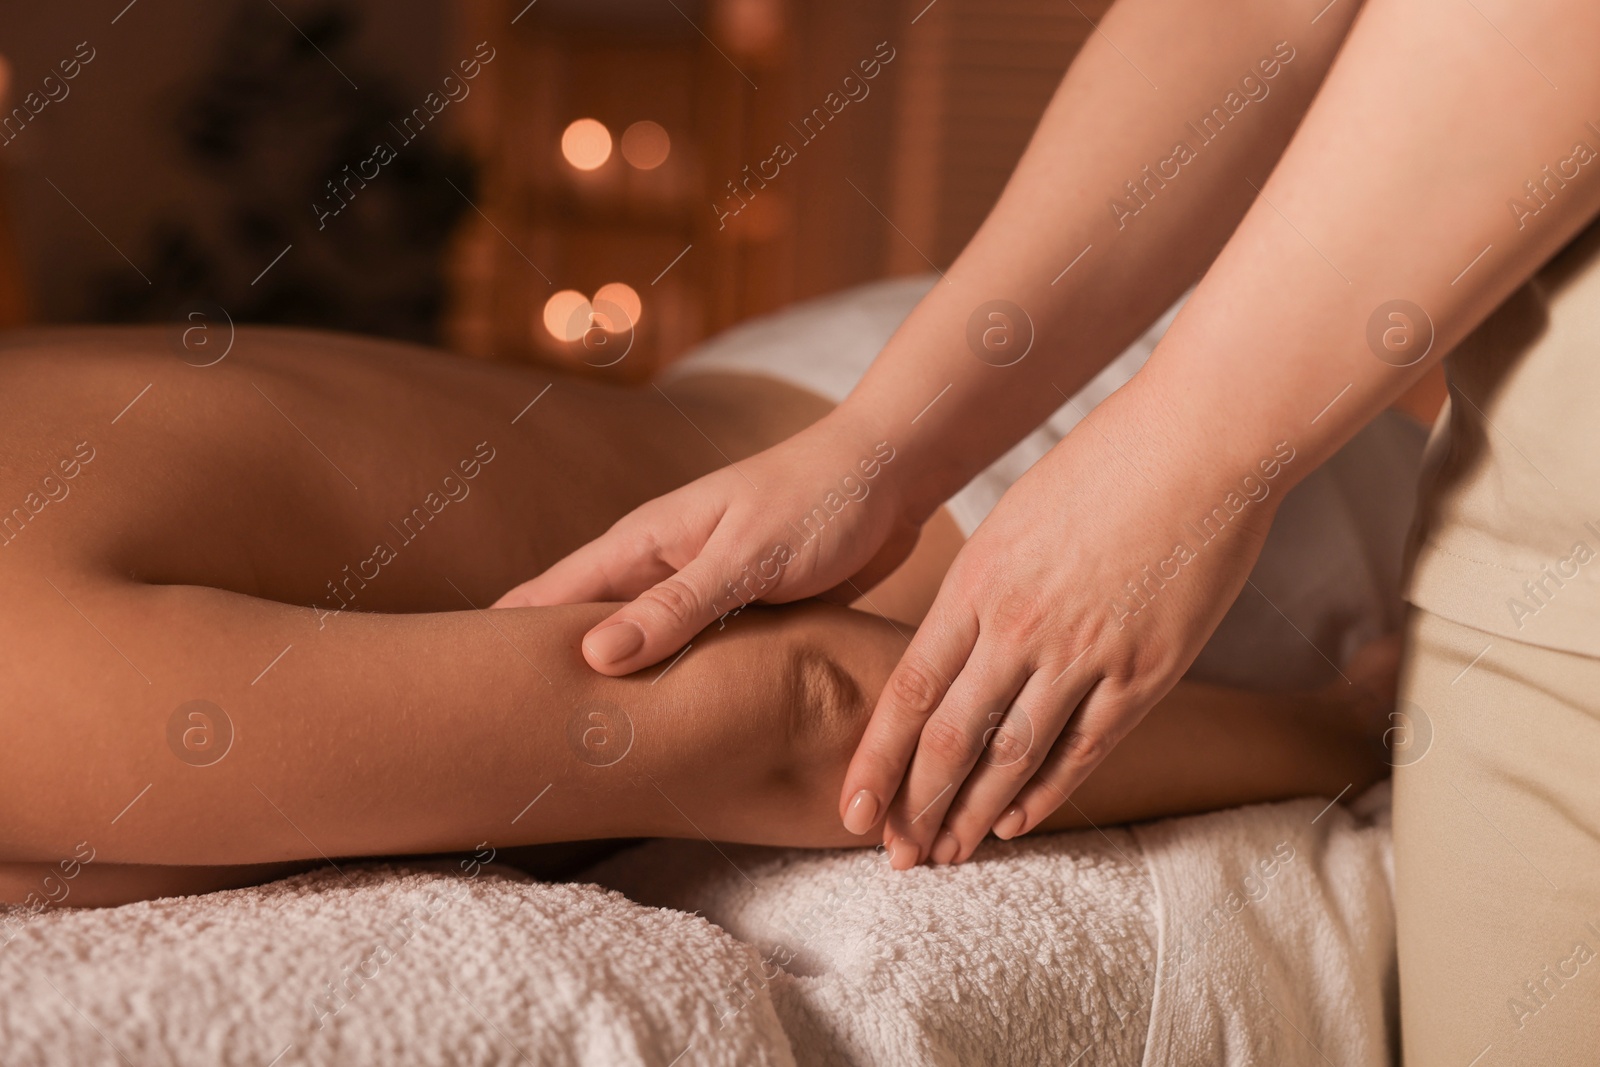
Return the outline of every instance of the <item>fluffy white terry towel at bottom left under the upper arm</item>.
[[[702,918],[491,870],[354,865],[50,912],[0,950],[0,1064],[666,1067],[754,958]],[[766,1005],[717,1053],[794,1064]]]

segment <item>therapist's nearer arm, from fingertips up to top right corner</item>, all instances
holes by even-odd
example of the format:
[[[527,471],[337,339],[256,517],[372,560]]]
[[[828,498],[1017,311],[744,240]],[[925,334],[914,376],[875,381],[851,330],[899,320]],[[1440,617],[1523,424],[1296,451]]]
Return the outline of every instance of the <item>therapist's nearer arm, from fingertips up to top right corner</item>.
[[[1147,368],[963,549],[846,803],[898,790],[890,832],[926,856],[930,816],[958,789],[981,797],[957,829],[970,851],[1083,782],[1243,587],[1282,490],[1595,216],[1597,48],[1600,8],[1579,0],[1366,3]],[[1245,506],[1267,478],[1270,496]],[[1216,515],[1227,531],[1213,537]],[[971,757],[974,712],[1019,689],[1054,741],[1026,785]]]

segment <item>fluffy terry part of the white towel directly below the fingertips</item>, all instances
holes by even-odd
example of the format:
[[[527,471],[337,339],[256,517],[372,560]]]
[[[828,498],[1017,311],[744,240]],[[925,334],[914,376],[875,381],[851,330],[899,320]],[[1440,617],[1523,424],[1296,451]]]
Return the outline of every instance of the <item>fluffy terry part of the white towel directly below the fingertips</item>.
[[[1157,901],[1126,830],[906,872],[878,851],[654,841],[590,877],[760,950],[707,1006],[712,1048],[771,1005],[798,1064],[1064,1064],[1090,1048],[1086,1062],[1139,1062]]]

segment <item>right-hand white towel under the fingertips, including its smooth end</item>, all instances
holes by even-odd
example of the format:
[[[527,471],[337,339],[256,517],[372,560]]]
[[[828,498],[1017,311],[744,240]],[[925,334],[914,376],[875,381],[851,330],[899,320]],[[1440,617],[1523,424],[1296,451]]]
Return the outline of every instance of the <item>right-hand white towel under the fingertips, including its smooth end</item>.
[[[590,877],[755,945],[714,1011],[771,1003],[798,1064],[1378,1065],[1387,797],[990,841],[899,873],[877,853],[654,841]]]

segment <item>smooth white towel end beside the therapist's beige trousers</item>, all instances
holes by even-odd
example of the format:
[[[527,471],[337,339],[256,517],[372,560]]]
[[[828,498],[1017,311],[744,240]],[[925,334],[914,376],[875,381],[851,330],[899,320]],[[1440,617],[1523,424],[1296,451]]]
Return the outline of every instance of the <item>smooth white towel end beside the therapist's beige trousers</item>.
[[[1299,800],[1134,830],[1162,896],[1144,1062],[1395,1062],[1389,784],[1355,809]]]

